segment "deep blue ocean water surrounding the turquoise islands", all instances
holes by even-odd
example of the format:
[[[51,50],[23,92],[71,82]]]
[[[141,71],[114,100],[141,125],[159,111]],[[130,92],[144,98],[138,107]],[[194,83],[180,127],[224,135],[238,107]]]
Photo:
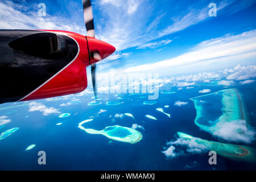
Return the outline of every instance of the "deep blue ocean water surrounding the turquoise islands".
[[[88,106],[93,99],[92,95],[74,96],[79,98],[81,103],[61,107],[60,104],[71,101],[37,100],[47,107],[60,109],[61,113],[71,113],[69,117],[59,118],[57,113],[43,115],[40,111],[28,111],[28,106],[14,107],[0,110],[0,116],[6,115],[11,119],[0,133],[19,127],[9,137],[0,140],[0,169],[64,169],[64,170],[230,170],[230,169],[256,169],[255,164],[236,162],[222,156],[217,157],[217,166],[208,164],[208,154],[196,154],[178,156],[174,159],[167,159],[161,151],[166,147],[166,142],[176,139],[177,131],[199,137],[218,141],[205,131],[201,131],[194,123],[196,110],[191,97],[201,96],[199,90],[209,88],[212,92],[225,89],[223,86],[195,86],[194,89],[177,90],[175,87],[166,86],[160,91],[175,91],[174,94],[160,94],[156,104],[143,105],[146,98],[139,98],[142,95],[123,94],[123,100],[118,100],[114,95],[100,94],[102,100],[100,105]],[[232,87],[230,87],[232,88]],[[242,94],[247,110],[250,114],[251,126],[255,127],[255,85],[244,85],[237,87]],[[147,96],[147,95],[145,95]],[[119,97],[119,96],[118,96]],[[105,100],[109,98],[109,100]],[[124,102],[120,105],[106,105],[108,101]],[[188,102],[187,105],[174,106],[175,101]],[[30,102],[28,102],[30,103]],[[26,103],[15,103],[15,105]],[[2,104],[0,107],[7,107],[14,104]],[[164,105],[170,105],[164,108]],[[160,113],[156,108],[162,107],[171,118]],[[96,114],[100,109],[107,110],[104,113]],[[115,114],[131,113],[134,118],[124,116],[121,118],[109,117]],[[154,121],[146,118],[149,114],[158,119]],[[94,116],[92,122],[83,126],[95,130],[102,130],[106,126],[120,125],[131,127],[134,123],[144,127],[144,130],[137,129],[143,135],[143,139],[135,144],[110,140],[103,135],[88,134],[80,130],[78,123]],[[56,123],[63,123],[56,126]],[[110,141],[112,141],[110,143]],[[30,144],[36,144],[32,150],[25,151]],[[255,147],[255,142],[251,144]],[[47,164],[38,164],[38,151],[46,151]],[[192,166],[187,168],[186,166]]]

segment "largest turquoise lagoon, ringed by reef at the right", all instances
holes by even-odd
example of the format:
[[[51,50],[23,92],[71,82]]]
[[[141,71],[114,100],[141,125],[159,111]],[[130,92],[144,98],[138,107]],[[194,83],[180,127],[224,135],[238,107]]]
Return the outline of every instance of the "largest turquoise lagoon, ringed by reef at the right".
[[[190,98],[195,103],[195,123],[201,129],[213,133],[225,122],[246,121],[249,125],[246,106],[237,89],[225,89],[203,96]],[[223,126],[223,125],[222,125]],[[241,135],[246,135],[239,132]]]

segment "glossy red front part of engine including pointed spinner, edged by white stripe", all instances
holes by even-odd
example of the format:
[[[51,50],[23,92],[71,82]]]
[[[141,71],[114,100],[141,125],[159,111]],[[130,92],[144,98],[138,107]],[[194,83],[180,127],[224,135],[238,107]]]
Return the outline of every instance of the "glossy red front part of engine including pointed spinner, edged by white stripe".
[[[86,67],[97,62],[91,54],[97,52],[104,59],[115,51],[115,48],[110,44],[89,36],[68,31],[44,31],[69,36],[75,40],[79,51],[75,58],[65,65],[63,69],[19,101],[36,100],[81,92],[87,87]]]

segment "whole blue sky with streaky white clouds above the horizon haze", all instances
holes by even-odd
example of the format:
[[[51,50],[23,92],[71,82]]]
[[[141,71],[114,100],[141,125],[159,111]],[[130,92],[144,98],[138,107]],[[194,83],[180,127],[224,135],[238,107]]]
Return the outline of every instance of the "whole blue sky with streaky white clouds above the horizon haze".
[[[47,15],[38,17],[38,4]],[[210,17],[209,3],[217,16]],[[92,0],[96,38],[117,48],[98,72],[160,76],[254,65],[256,1]],[[0,28],[86,34],[81,1],[1,1]]]

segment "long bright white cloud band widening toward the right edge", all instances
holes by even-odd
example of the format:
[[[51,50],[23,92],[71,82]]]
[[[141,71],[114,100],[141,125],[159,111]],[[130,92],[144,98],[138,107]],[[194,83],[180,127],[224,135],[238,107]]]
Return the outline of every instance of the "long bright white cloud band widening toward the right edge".
[[[220,38],[206,40],[197,44],[191,51],[172,59],[148,63],[123,69],[122,72],[146,72],[156,69],[169,69],[181,65],[222,63],[234,60],[255,59],[256,57],[256,30],[243,32],[238,35],[225,35]],[[201,64],[201,62],[200,62]],[[169,70],[170,72],[170,70]]]

